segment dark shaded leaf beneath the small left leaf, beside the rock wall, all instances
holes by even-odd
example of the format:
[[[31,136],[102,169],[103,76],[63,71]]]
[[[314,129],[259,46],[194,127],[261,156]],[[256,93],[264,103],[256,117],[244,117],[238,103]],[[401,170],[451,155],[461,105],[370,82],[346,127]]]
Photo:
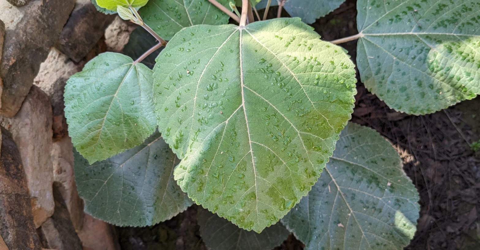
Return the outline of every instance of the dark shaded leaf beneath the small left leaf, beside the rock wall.
[[[75,180],[85,212],[119,226],[150,226],[183,212],[192,200],[173,179],[180,160],[159,132],[143,144],[92,165],[76,150]]]

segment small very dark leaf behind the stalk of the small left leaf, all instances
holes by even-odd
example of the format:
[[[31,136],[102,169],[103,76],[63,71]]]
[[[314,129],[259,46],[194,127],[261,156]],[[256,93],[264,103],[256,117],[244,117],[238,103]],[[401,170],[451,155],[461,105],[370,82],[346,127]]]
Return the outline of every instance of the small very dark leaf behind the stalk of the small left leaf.
[[[139,26],[133,30],[132,34],[130,34],[128,43],[123,48],[123,54],[131,58],[139,58],[144,54],[145,51],[154,47],[156,44],[158,44],[158,41],[155,39],[155,37],[151,36],[148,31]],[[142,63],[148,68],[153,69],[153,66],[155,65],[155,59],[163,48],[164,47],[161,47],[152,54],[148,55],[144,60],[142,60]]]

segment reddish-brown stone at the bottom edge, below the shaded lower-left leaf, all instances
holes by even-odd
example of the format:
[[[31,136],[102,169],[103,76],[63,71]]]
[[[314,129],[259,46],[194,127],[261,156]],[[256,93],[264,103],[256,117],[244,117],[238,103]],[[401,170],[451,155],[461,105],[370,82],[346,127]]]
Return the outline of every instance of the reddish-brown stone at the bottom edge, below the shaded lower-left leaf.
[[[115,228],[89,214],[85,214],[84,226],[77,233],[84,250],[120,250]]]

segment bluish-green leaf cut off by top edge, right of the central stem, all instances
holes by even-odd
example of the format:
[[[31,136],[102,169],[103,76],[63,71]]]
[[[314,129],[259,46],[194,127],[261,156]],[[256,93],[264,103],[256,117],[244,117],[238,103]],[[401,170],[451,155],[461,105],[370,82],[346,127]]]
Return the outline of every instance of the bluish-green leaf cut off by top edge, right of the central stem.
[[[337,9],[345,0],[286,0],[283,8],[290,16],[300,17],[307,24],[315,21]],[[264,9],[268,0],[262,0],[255,7]],[[272,0],[270,6],[277,6],[278,1]]]

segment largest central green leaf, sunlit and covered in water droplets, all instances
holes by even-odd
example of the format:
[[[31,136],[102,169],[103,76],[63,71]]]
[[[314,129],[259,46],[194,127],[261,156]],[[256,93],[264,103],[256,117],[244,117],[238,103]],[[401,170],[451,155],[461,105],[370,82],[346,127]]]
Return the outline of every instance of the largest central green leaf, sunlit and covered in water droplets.
[[[198,204],[261,232],[316,182],[352,112],[345,51],[299,18],[181,30],[154,68],[157,121]]]

